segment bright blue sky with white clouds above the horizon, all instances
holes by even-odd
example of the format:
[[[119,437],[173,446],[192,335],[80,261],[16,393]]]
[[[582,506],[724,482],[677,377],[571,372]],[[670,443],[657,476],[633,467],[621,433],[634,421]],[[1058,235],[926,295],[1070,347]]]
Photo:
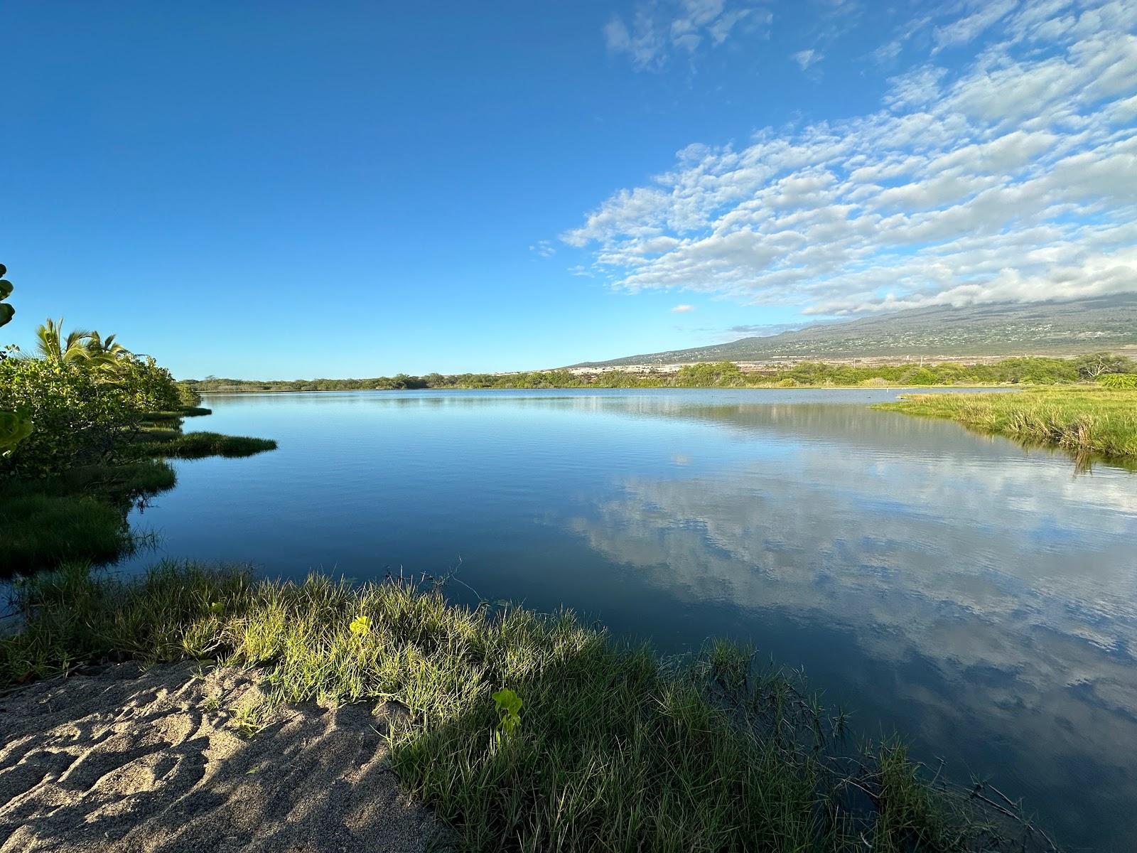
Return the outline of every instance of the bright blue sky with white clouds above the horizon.
[[[180,378],[1137,290],[1137,0],[7,0],[0,260]]]

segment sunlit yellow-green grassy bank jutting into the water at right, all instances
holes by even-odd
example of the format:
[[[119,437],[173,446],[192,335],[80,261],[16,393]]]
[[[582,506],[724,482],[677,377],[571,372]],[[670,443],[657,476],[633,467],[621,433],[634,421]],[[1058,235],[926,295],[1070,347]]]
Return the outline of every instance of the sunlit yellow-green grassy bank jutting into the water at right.
[[[1021,394],[919,395],[877,408],[948,417],[1024,444],[1137,462],[1137,390],[1079,386]]]

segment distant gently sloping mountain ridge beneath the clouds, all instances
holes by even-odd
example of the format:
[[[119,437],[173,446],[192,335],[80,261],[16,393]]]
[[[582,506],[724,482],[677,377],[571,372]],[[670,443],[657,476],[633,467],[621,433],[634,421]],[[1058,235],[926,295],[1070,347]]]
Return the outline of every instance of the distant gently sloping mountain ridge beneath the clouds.
[[[1137,347],[1137,293],[1067,303],[911,308],[766,338],[584,362],[619,367],[690,362],[904,358],[906,356],[1077,355]]]

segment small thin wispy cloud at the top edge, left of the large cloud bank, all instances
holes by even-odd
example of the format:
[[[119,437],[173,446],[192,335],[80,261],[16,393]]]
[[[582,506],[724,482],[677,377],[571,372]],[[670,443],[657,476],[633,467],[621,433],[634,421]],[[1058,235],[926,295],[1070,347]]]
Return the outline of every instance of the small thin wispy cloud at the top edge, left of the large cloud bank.
[[[732,0],[648,0],[628,23],[613,15],[604,41],[613,53],[626,53],[640,71],[659,71],[672,53],[692,56],[704,45],[722,44],[742,26],[770,24],[767,9]]]

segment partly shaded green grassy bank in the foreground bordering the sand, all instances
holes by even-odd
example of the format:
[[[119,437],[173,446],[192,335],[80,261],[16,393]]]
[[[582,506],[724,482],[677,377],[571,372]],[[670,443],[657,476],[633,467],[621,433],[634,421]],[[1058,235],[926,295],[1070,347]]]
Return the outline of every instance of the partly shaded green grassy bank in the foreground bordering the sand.
[[[850,759],[841,718],[730,644],[665,662],[567,613],[196,565],[128,583],[68,569],[16,595],[6,685],[83,661],[200,657],[266,666],[268,702],[399,703],[393,768],[464,850],[1022,848],[988,820],[981,789],[932,785],[897,745]],[[257,730],[263,709],[231,711]]]

